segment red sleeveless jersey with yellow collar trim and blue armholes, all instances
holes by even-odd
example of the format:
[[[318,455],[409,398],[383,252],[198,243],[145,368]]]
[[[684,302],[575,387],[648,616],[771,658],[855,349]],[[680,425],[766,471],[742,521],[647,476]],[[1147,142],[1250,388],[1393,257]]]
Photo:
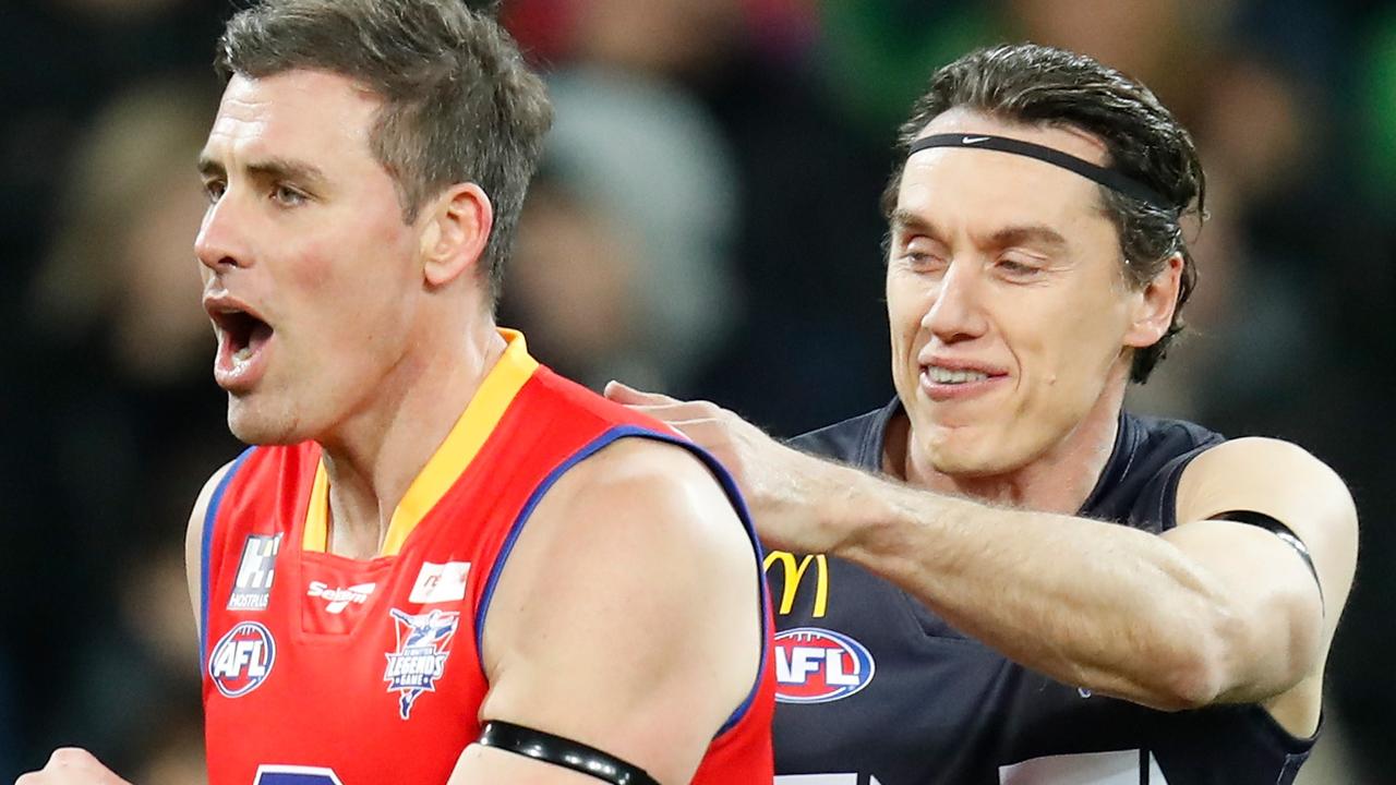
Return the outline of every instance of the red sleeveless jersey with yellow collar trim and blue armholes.
[[[201,661],[212,785],[444,785],[480,733],[480,631],[529,513],[616,439],[683,444],[662,423],[533,362],[522,337],[486,377],[394,513],[383,555],[325,552],[320,447],[254,447],[209,503]],[[769,603],[761,676],[692,782],[773,779]],[[699,602],[701,599],[695,599]],[[578,675],[585,677],[585,675]],[[600,781],[597,781],[600,782]]]

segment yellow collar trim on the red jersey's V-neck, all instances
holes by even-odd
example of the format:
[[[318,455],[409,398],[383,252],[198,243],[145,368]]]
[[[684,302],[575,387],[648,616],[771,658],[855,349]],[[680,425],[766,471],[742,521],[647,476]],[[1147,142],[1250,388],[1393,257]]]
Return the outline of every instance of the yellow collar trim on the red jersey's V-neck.
[[[470,398],[465,412],[455,420],[445,441],[408,486],[398,508],[392,511],[388,536],[383,541],[380,556],[396,556],[402,550],[402,543],[406,542],[412,529],[465,474],[480,447],[494,433],[494,427],[504,418],[504,412],[514,402],[518,391],[537,370],[537,360],[529,356],[522,332],[501,328],[500,335],[508,342],[508,346],[490,373],[484,376],[484,381],[480,383],[480,388]],[[302,549],[322,553],[328,550],[328,543],[329,475],[325,472],[325,462],[321,458],[320,465],[315,467],[314,483],[310,486],[310,506],[306,510]]]

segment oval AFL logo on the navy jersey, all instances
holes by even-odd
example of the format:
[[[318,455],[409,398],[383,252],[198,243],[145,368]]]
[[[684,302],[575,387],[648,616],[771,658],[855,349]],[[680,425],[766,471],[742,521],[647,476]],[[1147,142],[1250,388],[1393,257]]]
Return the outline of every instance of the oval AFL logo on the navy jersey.
[[[868,686],[875,665],[859,641],[818,627],[776,636],[776,701],[829,703]]]

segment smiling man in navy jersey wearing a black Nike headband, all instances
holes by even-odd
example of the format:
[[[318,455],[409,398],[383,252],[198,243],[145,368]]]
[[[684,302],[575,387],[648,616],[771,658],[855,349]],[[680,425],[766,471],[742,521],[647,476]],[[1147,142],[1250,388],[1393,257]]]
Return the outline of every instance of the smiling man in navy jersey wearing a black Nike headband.
[[[1122,411],[1194,281],[1187,131],[1128,77],[1020,45],[940,70],[900,145],[895,401],[792,450],[609,390],[723,458],[783,549],[776,781],[1291,782],[1351,497],[1293,444]]]

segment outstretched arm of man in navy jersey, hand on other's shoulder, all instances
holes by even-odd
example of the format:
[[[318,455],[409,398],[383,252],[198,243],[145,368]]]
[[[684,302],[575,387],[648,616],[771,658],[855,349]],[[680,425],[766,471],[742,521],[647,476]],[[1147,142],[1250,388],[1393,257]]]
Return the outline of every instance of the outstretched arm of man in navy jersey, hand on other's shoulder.
[[[1286,726],[1316,722],[1357,517],[1342,480],[1294,446],[1247,439],[1209,450],[1180,483],[1181,525],[1154,536],[914,489],[776,444],[711,404],[607,392],[733,468],[768,545],[863,564],[1027,668],[1164,710],[1301,690],[1309,700],[1283,712]],[[1206,520],[1238,508],[1298,534],[1322,603],[1277,536]]]

